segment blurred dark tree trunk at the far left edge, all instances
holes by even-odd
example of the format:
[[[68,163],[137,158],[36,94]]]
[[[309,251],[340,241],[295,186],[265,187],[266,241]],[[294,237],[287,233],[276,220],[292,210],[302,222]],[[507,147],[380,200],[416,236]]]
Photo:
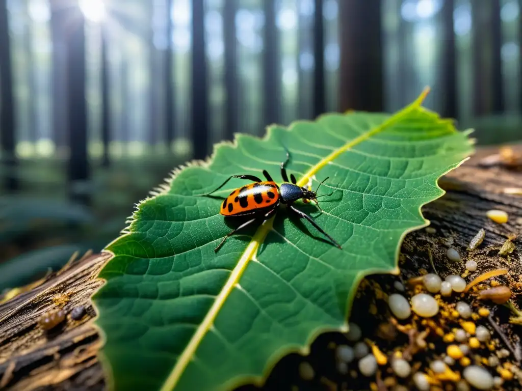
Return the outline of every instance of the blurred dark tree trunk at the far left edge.
[[[5,170],[5,189],[14,192],[18,189],[18,180],[15,174],[15,101],[8,22],[7,0],[0,0],[0,143],[2,169]]]

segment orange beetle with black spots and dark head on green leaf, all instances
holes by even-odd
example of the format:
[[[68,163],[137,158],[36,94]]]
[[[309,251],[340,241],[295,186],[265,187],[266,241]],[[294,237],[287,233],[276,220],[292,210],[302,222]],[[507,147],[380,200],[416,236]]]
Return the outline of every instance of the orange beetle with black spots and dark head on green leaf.
[[[337,241],[328,235],[321,227],[317,225],[317,223],[313,220],[312,217],[307,215],[306,213],[296,209],[293,203],[297,200],[303,201],[314,201],[319,210],[319,204],[317,202],[317,198],[323,196],[331,196],[333,192],[329,194],[323,194],[322,196],[317,196],[317,190],[321,185],[328,179],[326,177],[318,186],[315,191],[309,190],[305,187],[301,187],[296,185],[297,180],[293,174],[290,174],[290,180],[288,180],[288,174],[285,166],[290,160],[290,154],[287,150],[287,159],[286,161],[281,163],[281,177],[283,178],[283,183],[281,185],[277,185],[276,182],[272,179],[270,174],[268,174],[267,170],[263,170],[263,175],[266,178],[266,181],[254,176],[254,175],[232,175],[226,181],[224,181],[220,186],[216,189],[212,190],[210,193],[206,194],[198,194],[201,197],[210,196],[210,194],[218,191],[227,182],[232,178],[240,178],[251,180],[254,183],[250,185],[243,186],[239,189],[235,189],[230,193],[228,197],[223,200],[221,204],[220,213],[223,216],[227,217],[238,217],[238,216],[252,216],[251,219],[241,224],[239,227],[230,231],[223,240],[219,243],[218,247],[214,250],[217,252],[221,246],[223,246],[224,242],[235,234],[240,229],[243,229],[254,222],[263,221],[266,222],[269,218],[274,216],[277,212],[277,208],[280,204],[285,204],[287,206],[287,210],[290,213],[293,213],[300,218],[305,218],[310,222],[320,233],[326,236],[334,246],[339,249],[341,246]]]

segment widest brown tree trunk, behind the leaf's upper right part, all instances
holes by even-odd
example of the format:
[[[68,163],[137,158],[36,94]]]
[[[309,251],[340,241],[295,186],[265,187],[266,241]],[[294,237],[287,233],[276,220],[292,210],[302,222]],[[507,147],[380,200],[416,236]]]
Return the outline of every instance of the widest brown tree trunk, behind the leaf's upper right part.
[[[340,109],[383,110],[381,0],[339,2]],[[371,28],[369,28],[371,26]]]

